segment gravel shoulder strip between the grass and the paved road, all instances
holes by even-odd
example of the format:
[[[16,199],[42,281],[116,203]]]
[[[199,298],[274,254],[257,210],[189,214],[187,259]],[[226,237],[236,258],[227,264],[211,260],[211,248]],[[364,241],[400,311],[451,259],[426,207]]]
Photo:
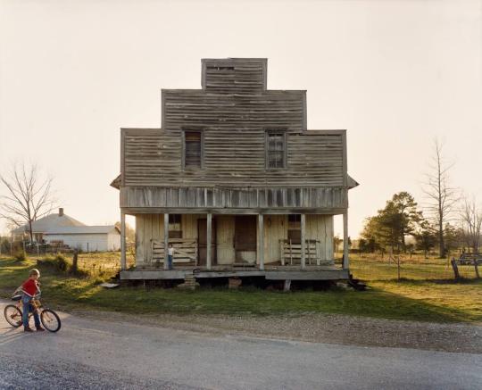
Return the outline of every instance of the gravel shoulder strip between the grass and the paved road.
[[[131,315],[106,311],[72,311],[82,317],[127,321],[211,335],[284,338],[315,343],[415,348],[451,353],[482,353],[482,326],[371,319],[337,314],[293,316]]]

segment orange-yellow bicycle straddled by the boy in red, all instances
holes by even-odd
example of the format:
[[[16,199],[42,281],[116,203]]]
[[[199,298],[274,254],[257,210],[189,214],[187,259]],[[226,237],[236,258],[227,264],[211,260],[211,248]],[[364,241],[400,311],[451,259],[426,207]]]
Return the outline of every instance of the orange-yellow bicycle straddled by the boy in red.
[[[22,324],[21,311],[23,304],[21,303],[21,295],[13,295],[12,301],[16,301],[16,304],[7,304],[4,309],[4,316],[6,321],[12,325],[13,328],[19,328]],[[40,317],[40,321],[46,330],[49,332],[58,332],[62,326],[61,320],[57,313],[51,309],[44,307],[40,302],[40,293],[34,295],[30,301],[33,307],[33,311],[37,311]],[[29,320],[33,315],[33,311],[29,312]]]

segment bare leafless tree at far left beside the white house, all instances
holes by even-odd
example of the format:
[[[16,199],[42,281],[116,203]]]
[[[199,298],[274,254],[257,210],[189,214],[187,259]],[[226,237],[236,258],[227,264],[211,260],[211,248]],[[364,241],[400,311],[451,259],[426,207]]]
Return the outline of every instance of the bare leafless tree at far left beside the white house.
[[[33,242],[32,222],[55,208],[53,178],[44,177],[36,165],[13,164],[9,175],[0,175],[6,195],[0,196],[0,218],[15,227],[27,225]]]

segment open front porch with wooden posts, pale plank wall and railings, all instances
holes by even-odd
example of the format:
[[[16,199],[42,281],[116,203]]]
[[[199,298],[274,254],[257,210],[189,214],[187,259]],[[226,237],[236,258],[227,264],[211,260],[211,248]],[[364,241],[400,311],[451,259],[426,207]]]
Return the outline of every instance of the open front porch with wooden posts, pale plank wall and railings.
[[[121,232],[122,279],[183,279],[187,275],[270,280],[348,278],[347,245],[341,268],[334,262],[333,215],[133,215],[137,217],[136,266],[126,270],[125,238]],[[168,270],[164,261],[169,245],[174,248],[173,270]]]

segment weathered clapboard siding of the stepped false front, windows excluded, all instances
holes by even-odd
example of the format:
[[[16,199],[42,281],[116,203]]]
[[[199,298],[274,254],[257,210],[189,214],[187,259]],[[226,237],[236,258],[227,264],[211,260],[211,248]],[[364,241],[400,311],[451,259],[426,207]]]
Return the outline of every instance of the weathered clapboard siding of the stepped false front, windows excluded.
[[[345,130],[307,130],[306,91],[267,90],[266,59],[202,63],[202,89],[162,90],[162,129],[121,130],[120,187],[347,187]],[[268,130],[286,134],[283,168],[266,167]],[[183,166],[186,131],[202,168]]]

